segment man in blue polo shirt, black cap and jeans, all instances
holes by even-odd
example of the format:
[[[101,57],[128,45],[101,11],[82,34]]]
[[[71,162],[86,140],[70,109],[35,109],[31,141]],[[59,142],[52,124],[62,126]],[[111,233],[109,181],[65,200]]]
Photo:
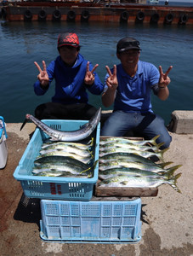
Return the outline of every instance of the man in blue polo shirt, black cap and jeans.
[[[128,131],[135,131],[145,139],[157,138],[156,143],[164,143],[161,148],[169,147],[172,138],[167,132],[163,119],[153,113],[150,92],[162,101],[169,96],[167,85],[170,79],[162,67],[157,68],[148,62],[139,61],[139,41],[135,38],[122,38],[116,45],[116,56],[121,64],[108,66],[105,77],[105,90],[102,102],[105,107],[114,103],[113,113],[105,121],[102,136],[121,137]]]

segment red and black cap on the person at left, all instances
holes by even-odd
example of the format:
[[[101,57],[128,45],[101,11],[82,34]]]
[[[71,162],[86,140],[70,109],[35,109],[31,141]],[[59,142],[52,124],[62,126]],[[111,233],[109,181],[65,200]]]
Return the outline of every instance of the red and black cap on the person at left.
[[[79,39],[76,33],[66,32],[64,34],[60,34],[58,38],[58,47],[70,45],[73,47],[79,46]]]

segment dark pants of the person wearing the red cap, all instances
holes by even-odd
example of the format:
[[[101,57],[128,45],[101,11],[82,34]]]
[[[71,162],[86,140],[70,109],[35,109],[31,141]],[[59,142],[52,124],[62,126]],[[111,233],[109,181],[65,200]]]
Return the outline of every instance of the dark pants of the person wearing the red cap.
[[[61,104],[57,102],[43,103],[35,109],[37,119],[79,119],[89,120],[97,109],[86,103]]]

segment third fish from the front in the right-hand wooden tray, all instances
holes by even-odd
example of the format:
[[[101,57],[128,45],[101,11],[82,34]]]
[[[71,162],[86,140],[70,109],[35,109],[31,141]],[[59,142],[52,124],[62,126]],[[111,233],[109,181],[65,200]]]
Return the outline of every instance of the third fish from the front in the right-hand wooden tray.
[[[132,153],[132,154],[139,154],[140,156],[143,156],[145,158],[150,158],[151,156],[156,156],[159,160],[163,161],[163,154],[168,150],[168,148],[164,148],[160,152],[150,152],[150,151],[140,151],[135,150],[132,148],[111,148],[108,150],[103,151],[102,153],[99,153],[99,157],[104,156],[105,154],[111,154],[111,153]]]

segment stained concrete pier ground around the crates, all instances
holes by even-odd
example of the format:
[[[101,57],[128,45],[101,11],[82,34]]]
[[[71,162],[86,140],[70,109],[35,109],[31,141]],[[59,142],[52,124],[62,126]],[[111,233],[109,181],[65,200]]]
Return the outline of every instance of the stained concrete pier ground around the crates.
[[[191,123],[192,124],[192,123]],[[190,256],[193,255],[193,134],[170,132],[171,147],[164,154],[171,166],[182,165],[178,186],[159,187],[156,197],[142,197],[142,239],[137,244],[48,243],[39,236],[39,201],[23,195],[13,173],[18,166],[35,125],[8,123],[7,166],[0,170],[0,254],[2,256]],[[178,129],[176,129],[178,131]],[[191,130],[192,131],[192,130]]]

